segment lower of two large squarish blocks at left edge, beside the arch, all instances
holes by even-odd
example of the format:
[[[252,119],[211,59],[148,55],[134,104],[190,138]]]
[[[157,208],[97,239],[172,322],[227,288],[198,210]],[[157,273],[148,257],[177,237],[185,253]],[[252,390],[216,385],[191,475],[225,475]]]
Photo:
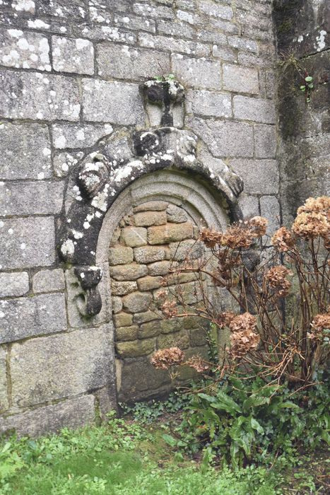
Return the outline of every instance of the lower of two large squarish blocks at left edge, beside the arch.
[[[0,221],[0,252],[3,269],[54,263],[54,219],[28,217]]]

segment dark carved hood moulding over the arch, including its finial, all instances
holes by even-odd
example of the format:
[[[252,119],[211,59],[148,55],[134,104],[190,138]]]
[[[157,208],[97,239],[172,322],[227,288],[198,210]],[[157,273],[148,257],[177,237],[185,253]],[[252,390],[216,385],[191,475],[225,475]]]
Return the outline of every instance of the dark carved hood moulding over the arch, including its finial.
[[[75,169],[74,185],[68,187],[70,206],[59,229],[61,258],[75,265],[74,272],[84,292],[84,301],[77,299],[81,314],[94,316],[102,307],[98,283],[102,270],[95,267],[98,235],[103,218],[119,194],[142,175],[165,168],[189,170],[201,175],[218,190],[228,204],[231,221],[242,219],[237,197],[243,182],[229,168],[217,173],[210,165],[199,161],[196,153],[199,138],[184,129],[172,126],[173,105],[181,105],[184,88],[177,81],[147,81],[143,84],[145,98],[159,105],[163,112],[160,127],[131,134],[131,149],[111,155],[109,146],[90,153]],[[120,136],[118,139],[121,139]],[[127,140],[128,141],[128,140]]]

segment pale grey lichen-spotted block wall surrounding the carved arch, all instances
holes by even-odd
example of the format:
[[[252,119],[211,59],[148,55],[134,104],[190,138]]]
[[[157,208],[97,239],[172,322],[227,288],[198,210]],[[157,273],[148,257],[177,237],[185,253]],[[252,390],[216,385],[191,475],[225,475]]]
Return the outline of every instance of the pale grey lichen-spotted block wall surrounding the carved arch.
[[[37,434],[117,401],[111,313],[76,315],[57,239],[81,161],[148,127],[141,82],[174,74],[208,175],[278,216],[271,1],[2,0],[0,37],[0,431]]]

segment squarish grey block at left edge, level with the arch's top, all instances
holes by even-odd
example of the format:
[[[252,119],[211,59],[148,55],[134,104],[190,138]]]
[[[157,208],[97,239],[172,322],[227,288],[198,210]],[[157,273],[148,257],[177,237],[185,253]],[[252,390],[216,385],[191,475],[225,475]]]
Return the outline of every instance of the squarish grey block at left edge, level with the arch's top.
[[[0,179],[52,177],[47,126],[3,122],[0,135]]]

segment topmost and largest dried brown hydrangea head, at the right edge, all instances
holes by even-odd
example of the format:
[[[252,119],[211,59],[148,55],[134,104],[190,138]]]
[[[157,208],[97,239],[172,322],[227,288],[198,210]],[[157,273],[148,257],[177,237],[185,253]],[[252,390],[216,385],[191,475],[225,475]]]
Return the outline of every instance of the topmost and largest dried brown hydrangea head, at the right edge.
[[[308,198],[305,204],[297,209],[293,232],[305,239],[319,236],[329,239],[330,198],[326,196]]]

